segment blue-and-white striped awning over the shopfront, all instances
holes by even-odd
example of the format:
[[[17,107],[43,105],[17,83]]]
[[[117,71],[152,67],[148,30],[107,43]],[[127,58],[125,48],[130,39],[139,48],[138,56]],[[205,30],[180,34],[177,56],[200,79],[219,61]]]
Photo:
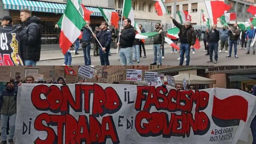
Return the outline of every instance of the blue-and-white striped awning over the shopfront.
[[[34,12],[51,12],[51,13],[64,13],[66,4],[51,3],[44,1],[34,0],[2,0],[4,9],[9,10],[22,10],[28,9]],[[97,7],[85,6],[89,11],[93,11],[92,16],[102,16]],[[115,9],[106,9],[109,12],[116,12]]]

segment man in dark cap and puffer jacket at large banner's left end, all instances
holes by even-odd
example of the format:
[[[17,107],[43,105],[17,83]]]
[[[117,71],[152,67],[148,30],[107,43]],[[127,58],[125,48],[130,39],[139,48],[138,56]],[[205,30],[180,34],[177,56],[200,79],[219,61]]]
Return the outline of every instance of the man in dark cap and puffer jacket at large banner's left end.
[[[0,144],[7,144],[7,123],[9,119],[10,132],[9,132],[9,143],[14,144],[13,136],[15,130],[15,119],[16,119],[16,100],[18,89],[14,86],[14,79],[10,79],[7,83],[7,87],[3,89],[0,95],[1,108],[1,138]]]

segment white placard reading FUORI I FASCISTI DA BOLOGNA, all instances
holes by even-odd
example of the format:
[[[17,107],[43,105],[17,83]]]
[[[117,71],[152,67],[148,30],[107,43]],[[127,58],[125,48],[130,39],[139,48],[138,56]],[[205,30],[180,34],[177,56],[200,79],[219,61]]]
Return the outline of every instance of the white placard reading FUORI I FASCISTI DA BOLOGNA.
[[[126,69],[126,81],[142,81],[142,70]]]

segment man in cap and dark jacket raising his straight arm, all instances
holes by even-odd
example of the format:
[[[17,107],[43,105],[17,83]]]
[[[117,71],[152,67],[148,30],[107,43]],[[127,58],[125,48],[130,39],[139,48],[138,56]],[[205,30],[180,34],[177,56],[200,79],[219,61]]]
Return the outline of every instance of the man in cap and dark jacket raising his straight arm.
[[[185,21],[183,25],[174,20],[171,15],[170,18],[172,19],[173,24],[180,29],[180,66],[183,65],[185,53],[187,58],[186,66],[188,66],[190,61],[190,49],[196,44],[196,31],[189,20]]]

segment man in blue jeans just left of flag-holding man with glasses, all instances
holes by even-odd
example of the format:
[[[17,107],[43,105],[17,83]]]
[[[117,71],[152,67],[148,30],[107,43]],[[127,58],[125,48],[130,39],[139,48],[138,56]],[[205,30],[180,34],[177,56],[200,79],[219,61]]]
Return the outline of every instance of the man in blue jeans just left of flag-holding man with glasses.
[[[91,65],[91,44],[92,44],[92,32],[90,31],[90,22],[86,21],[86,25],[82,28],[83,35],[82,35],[82,49],[84,52],[84,65],[90,66]],[[92,28],[91,28],[92,29]]]

